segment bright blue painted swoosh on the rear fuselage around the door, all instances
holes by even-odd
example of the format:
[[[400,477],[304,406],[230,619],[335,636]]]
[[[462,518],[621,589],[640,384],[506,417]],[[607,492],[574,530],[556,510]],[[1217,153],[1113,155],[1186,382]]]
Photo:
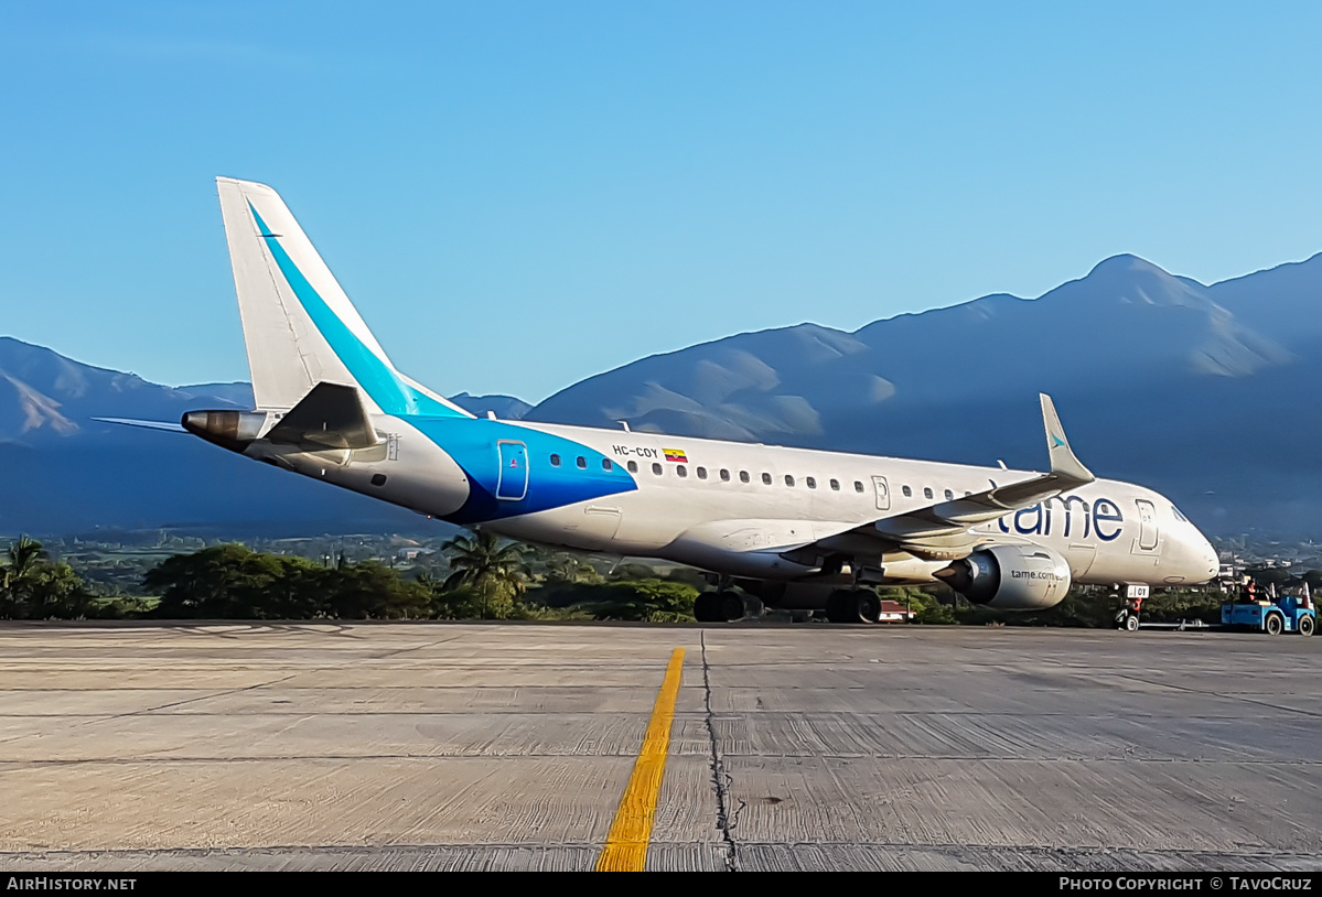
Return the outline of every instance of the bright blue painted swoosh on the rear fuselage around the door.
[[[468,474],[468,501],[444,519],[468,524],[521,514],[549,511],[566,505],[635,491],[639,485],[620,464],[582,443],[500,420],[467,417],[406,417],[418,431],[455,460]],[[527,493],[518,501],[496,498],[500,477],[498,441],[527,447]],[[551,466],[551,454],[561,466]],[[586,468],[578,466],[583,458]]]

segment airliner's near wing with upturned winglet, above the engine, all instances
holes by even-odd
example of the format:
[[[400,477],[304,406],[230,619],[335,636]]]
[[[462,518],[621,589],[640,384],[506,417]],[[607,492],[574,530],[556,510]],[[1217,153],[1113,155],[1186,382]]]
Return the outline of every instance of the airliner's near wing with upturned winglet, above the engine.
[[[1005,486],[998,486],[995,481],[992,481],[992,487],[981,493],[883,517],[836,536],[820,539],[808,548],[858,551],[861,547],[871,544],[879,550],[957,556],[976,542],[969,527],[994,520],[1010,511],[1032,507],[1038,502],[1055,498],[1096,480],[1069,448],[1051,396],[1039,394],[1039,399],[1042,400],[1042,421],[1047,431],[1047,454],[1051,458],[1048,473]],[[871,543],[861,542],[861,539],[869,539]]]

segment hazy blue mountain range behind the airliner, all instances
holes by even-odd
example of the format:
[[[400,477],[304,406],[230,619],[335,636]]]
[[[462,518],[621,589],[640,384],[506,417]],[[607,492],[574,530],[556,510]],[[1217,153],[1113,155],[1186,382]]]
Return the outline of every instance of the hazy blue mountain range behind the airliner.
[[[993,295],[847,333],[742,333],[591,377],[505,419],[1040,468],[1036,392],[1099,476],[1212,534],[1311,538],[1322,495],[1322,255],[1204,285],[1130,255],[1038,299]],[[415,531],[422,518],[200,440],[93,421],[247,407],[246,383],[165,387],[0,338],[0,532],[182,527]]]

